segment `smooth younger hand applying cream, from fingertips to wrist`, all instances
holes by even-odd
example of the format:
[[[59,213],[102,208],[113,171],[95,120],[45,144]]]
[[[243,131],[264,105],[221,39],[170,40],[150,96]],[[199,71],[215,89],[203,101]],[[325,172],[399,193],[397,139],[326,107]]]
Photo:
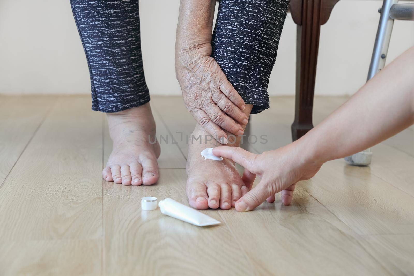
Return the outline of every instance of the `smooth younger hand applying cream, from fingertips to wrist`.
[[[260,183],[236,202],[237,211],[250,211],[267,202],[274,202],[274,194],[281,192],[282,203],[289,205],[296,182],[312,178],[322,163],[305,161],[294,143],[262,154],[252,154],[239,147],[219,146],[215,156],[229,158],[243,166],[243,179],[253,182],[256,175]]]

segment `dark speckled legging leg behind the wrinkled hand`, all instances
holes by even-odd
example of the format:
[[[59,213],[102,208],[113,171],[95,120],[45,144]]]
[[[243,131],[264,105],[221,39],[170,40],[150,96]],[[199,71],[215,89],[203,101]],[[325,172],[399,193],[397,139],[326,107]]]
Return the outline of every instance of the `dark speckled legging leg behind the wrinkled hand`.
[[[269,108],[267,86],[289,0],[221,0],[212,57],[252,114]]]

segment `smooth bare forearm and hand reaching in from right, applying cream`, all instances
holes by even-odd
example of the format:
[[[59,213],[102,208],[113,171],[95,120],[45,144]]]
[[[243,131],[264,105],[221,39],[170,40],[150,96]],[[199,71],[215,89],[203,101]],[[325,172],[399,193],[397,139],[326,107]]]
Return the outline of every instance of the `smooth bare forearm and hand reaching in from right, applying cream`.
[[[213,149],[215,156],[244,166],[245,183],[253,183],[255,175],[261,178],[236,202],[236,210],[253,210],[265,199],[274,200],[274,194],[280,191],[282,202],[289,204],[296,182],[312,178],[323,163],[368,149],[413,125],[413,60],[411,47],[319,125],[289,145],[260,155],[227,146]]]

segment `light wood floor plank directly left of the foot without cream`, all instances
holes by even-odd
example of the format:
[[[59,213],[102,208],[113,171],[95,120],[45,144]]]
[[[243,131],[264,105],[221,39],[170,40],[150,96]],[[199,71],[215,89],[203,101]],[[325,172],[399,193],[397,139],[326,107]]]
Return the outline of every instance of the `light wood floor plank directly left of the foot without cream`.
[[[0,188],[1,241],[101,237],[102,117],[85,99],[58,100]]]

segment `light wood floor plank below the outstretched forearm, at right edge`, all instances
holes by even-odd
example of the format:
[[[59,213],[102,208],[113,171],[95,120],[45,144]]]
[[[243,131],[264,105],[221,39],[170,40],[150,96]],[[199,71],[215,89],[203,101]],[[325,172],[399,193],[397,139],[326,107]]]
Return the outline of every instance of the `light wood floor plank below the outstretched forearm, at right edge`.
[[[414,234],[414,198],[372,175],[369,167],[329,161],[301,184],[358,234]]]

